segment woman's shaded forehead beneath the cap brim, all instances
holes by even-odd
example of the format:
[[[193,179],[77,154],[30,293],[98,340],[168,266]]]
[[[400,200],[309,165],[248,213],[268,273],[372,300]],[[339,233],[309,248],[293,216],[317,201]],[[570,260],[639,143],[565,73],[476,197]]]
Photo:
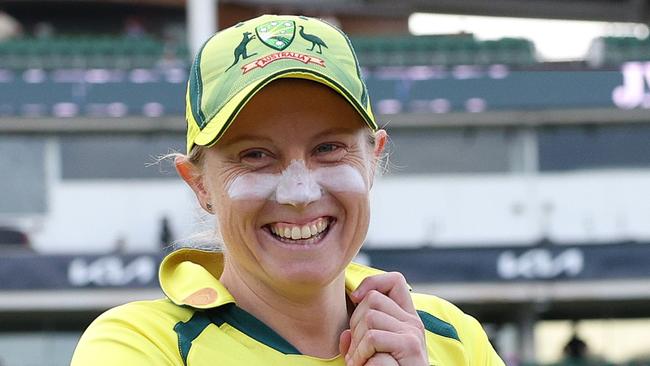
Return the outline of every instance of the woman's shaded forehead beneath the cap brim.
[[[310,80],[278,79],[248,101],[217,146],[241,135],[356,133],[365,128],[361,115],[330,87]]]

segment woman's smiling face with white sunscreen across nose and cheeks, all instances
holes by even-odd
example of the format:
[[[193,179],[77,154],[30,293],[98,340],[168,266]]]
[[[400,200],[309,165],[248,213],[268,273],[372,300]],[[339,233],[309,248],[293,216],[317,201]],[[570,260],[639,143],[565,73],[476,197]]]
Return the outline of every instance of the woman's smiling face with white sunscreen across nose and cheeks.
[[[373,146],[368,131],[324,85],[279,79],[258,92],[204,155],[203,199],[218,219],[225,270],[272,287],[339,276],[365,239],[386,140],[381,131]],[[316,188],[294,194],[303,183]]]

